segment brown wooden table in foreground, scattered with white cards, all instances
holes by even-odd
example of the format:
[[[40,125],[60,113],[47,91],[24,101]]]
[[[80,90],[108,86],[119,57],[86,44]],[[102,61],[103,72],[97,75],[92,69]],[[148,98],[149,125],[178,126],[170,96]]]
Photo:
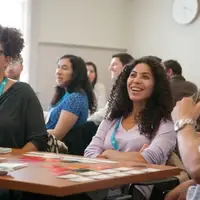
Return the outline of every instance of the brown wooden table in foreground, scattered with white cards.
[[[18,162],[21,155],[16,152],[13,155],[5,156],[8,162]],[[28,167],[10,172],[9,176],[0,176],[0,188],[15,189],[39,194],[49,194],[55,196],[67,196],[76,193],[95,191],[110,187],[116,187],[123,184],[138,183],[165,179],[178,175],[180,169],[169,166],[159,166],[150,164],[139,164],[133,162],[120,162],[110,164],[111,168],[117,167],[132,167],[133,169],[141,169],[145,166],[148,168],[157,168],[160,171],[146,172],[143,174],[132,174],[124,177],[112,177],[106,180],[94,180],[92,182],[70,182],[66,179],[59,179],[44,165],[58,165],[63,167],[98,167],[98,164],[81,164],[81,163],[64,163],[59,160],[56,162],[51,161],[23,161],[28,163]],[[103,164],[101,164],[103,165]],[[108,165],[108,164],[107,164]],[[141,165],[143,167],[141,167]]]

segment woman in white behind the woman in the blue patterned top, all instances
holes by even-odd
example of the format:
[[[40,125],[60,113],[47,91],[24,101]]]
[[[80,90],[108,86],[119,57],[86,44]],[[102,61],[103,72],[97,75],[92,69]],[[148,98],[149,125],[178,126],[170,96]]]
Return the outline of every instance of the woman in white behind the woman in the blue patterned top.
[[[97,99],[97,110],[103,108],[106,104],[106,90],[103,84],[98,83],[97,67],[93,62],[86,62],[88,78],[92,84],[94,94]]]

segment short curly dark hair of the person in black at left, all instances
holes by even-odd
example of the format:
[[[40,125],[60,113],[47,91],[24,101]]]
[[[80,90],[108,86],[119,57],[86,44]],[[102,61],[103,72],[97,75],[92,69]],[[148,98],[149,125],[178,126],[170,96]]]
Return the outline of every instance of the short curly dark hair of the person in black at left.
[[[0,25],[0,43],[5,56],[10,56],[13,61],[20,59],[20,53],[24,48],[24,39],[18,29]]]

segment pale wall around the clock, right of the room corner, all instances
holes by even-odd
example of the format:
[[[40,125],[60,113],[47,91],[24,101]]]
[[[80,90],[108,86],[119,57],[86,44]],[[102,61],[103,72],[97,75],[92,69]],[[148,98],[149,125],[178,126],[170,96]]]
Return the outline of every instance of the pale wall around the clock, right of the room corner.
[[[177,59],[184,76],[200,87],[200,17],[179,25],[172,17],[173,0],[133,0],[130,9],[130,52]]]

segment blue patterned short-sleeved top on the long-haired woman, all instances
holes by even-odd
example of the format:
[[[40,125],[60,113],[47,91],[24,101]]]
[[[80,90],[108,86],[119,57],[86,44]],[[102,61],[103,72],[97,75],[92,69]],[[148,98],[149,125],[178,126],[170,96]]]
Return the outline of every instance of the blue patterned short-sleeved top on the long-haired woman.
[[[86,94],[78,92],[66,93],[66,95],[53,107],[50,108],[47,129],[54,129],[61,111],[65,110],[78,116],[73,127],[84,124],[88,118],[88,98]]]

